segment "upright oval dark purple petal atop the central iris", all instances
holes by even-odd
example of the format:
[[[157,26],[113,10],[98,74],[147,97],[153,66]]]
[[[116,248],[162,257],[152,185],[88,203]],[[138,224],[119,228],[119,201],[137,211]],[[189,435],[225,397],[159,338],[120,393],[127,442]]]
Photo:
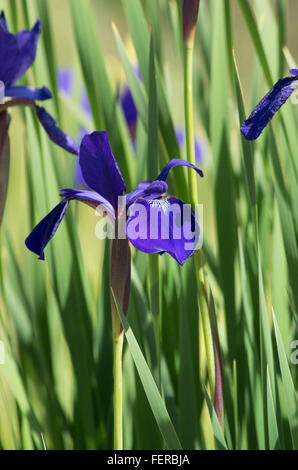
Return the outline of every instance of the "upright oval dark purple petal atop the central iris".
[[[118,196],[125,192],[125,183],[107,132],[96,131],[83,138],[79,163],[88,186],[117,207]]]

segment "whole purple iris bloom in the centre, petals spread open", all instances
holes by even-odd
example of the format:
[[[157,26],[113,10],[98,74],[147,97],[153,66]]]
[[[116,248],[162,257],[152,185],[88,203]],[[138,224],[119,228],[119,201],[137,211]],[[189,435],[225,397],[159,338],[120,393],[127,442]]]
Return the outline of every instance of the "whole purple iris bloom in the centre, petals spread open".
[[[90,190],[61,190],[62,201],[33,229],[25,242],[27,248],[36,253],[39,259],[44,259],[44,249],[55,235],[71,200],[84,202],[94,208],[100,205],[113,221],[118,220],[122,208],[118,205],[118,197],[125,194],[126,186],[113,156],[107,132],[96,131],[83,138],[79,151],[79,165]],[[203,176],[202,171],[191,163],[182,159],[173,159],[156,180],[141,182],[125,197],[125,236],[138,250],[145,253],[166,252],[183,265],[196,249],[191,245],[191,237],[185,235],[184,224],[189,226],[190,234],[199,233],[199,224],[192,209],[186,219],[178,220],[176,213],[173,216],[169,215],[174,205],[179,206],[181,210],[186,206],[189,207],[173,196],[163,196],[168,189],[166,183],[168,174],[176,166],[192,168],[201,177]],[[140,207],[142,211],[139,210]],[[153,227],[155,231],[152,236],[150,220],[153,218],[157,222]],[[136,222],[138,227],[134,231]],[[168,237],[164,237],[162,233],[166,223],[169,224]],[[177,233],[177,228],[180,229],[180,237],[174,234],[175,231]],[[187,242],[190,242],[192,248],[189,245],[186,247]]]

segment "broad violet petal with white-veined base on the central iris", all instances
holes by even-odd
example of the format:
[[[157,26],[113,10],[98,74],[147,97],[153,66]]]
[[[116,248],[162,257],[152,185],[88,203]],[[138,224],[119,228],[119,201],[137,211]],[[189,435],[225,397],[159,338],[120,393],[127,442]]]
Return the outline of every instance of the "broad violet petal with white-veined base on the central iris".
[[[129,211],[126,234],[138,250],[166,252],[181,265],[194,254],[200,228],[188,204],[172,196],[154,201],[137,199]]]

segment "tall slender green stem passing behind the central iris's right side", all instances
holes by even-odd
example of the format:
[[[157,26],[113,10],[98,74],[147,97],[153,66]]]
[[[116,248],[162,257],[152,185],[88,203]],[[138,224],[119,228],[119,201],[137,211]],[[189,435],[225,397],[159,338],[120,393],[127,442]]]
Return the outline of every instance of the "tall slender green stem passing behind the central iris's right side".
[[[189,39],[185,43],[185,57],[184,57],[184,99],[185,99],[185,134],[186,134],[186,149],[187,159],[190,163],[195,165],[195,135],[194,135],[194,112],[193,112],[193,39]],[[189,172],[189,186],[190,195],[193,205],[196,205],[197,200],[197,178],[196,173]],[[215,357],[213,347],[212,328],[209,315],[208,294],[205,288],[204,268],[202,263],[202,255],[198,251],[195,254],[195,266],[197,274],[197,288],[200,304],[200,313],[202,319],[208,377],[211,389],[211,396],[214,398],[216,373],[215,373]]]

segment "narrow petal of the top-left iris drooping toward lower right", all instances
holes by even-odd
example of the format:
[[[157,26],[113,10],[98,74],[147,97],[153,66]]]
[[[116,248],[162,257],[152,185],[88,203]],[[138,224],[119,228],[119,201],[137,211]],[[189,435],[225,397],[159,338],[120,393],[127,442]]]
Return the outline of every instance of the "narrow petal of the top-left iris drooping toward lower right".
[[[65,132],[59,129],[59,127],[57,127],[55,119],[53,119],[44,108],[35,106],[35,109],[38,119],[40,120],[40,123],[42,124],[50,139],[68,152],[77,155],[79,152],[79,147],[76,141],[69,135],[65,134]]]

